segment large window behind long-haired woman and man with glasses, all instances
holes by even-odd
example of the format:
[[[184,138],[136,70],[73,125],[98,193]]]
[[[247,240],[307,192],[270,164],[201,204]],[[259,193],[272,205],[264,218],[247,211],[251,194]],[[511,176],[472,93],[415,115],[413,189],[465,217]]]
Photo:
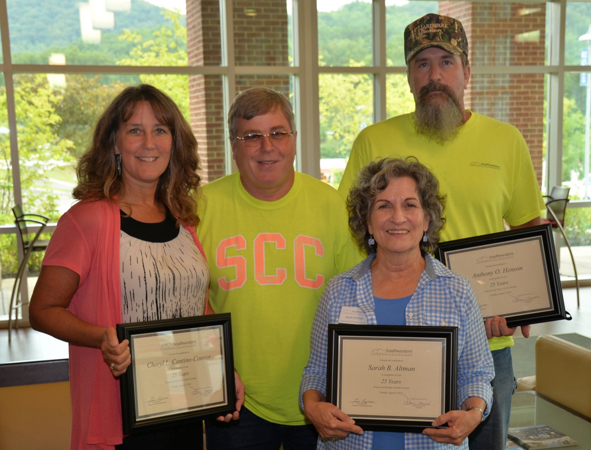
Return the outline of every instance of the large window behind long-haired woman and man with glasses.
[[[174,99],[197,137],[205,182],[232,171],[225,122],[236,94],[269,86],[298,106],[292,9],[286,0],[0,2],[0,320],[19,261],[12,206],[53,222],[67,211],[77,158],[126,86],[150,83]],[[33,255],[24,298],[43,258]]]

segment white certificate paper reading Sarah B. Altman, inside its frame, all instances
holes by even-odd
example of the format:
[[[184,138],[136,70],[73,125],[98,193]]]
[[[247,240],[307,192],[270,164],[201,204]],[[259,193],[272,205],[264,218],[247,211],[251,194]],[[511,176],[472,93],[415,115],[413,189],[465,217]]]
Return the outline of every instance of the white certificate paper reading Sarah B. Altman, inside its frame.
[[[339,337],[337,406],[353,419],[444,413],[444,338]]]

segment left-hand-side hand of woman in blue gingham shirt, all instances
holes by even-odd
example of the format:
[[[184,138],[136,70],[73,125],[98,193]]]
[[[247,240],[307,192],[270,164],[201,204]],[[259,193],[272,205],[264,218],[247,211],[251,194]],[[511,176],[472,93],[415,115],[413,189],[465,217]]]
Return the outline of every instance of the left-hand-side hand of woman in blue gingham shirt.
[[[326,397],[316,389],[309,389],[303,394],[304,414],[316,427],[322,439],[345,439],[350,433],[363,434],[355,420],[343,413],[332,403],[325,402]]]

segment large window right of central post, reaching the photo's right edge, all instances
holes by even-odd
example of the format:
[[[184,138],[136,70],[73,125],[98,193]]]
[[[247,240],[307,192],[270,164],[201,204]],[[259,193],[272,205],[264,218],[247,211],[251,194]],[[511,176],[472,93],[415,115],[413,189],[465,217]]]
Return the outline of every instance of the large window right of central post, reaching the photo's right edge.
[[[580,67],[591,65],[591,3],[318,1],[322,176],[338,186],[363,127],[414,111],[403,33],[430,12],[465,27],[472,66],[466,107],[521,131],[544,193],[571,187],[567,233],[579,274],[591,277],[584,264],[591,258],[591,215],[582,208],[591,206],[591,73]],[[565,270],[571,274],[568,263]]]

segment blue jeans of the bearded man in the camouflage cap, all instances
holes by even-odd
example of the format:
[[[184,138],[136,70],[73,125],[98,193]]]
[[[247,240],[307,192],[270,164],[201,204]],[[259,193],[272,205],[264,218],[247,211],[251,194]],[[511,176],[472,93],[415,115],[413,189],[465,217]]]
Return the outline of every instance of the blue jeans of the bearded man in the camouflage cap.
[[[486,420],[468,436],[470,450],[504,450],[511,418],[511,396],[517,389],[513,376],[511,347],[492,352],[495,378],[492,386],[492,409]]]

